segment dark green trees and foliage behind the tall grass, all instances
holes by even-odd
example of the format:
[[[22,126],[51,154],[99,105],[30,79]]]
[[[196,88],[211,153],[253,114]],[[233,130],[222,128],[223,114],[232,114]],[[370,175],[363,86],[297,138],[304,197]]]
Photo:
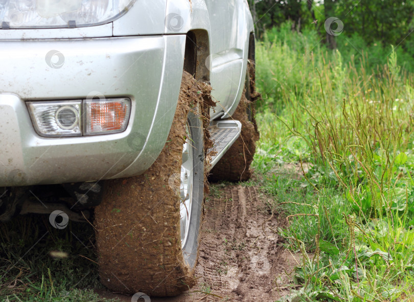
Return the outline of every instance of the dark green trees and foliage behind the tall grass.
[[[401,65],[414,71],[414,1],[408,0],[248,0],[256,24],[256,36],[289,21],[291,29],[315,30],[320,42],[339,49],[347,60],[356,61],[369,51],[371,64],[385,64],[394,45]],[[343,32],[333,37],[325,31],[329,17],[340,19]]]

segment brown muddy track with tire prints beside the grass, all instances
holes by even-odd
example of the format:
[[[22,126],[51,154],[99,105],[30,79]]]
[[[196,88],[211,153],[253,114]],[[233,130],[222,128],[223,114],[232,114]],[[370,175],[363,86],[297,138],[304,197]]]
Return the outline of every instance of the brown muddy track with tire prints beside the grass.
[[[298,261],[280,245],[284,217],[266,212],[256,187],[215,186],[205,203],[197,285],[171,301],[274,301],[289,293]],[[271,218],[271,220],[270,220]],[[130,296],[100,292],[131,301]]]

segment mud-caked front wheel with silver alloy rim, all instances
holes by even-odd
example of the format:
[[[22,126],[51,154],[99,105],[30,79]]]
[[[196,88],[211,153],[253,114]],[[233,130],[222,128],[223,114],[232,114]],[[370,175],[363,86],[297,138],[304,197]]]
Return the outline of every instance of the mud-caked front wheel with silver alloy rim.
[[[194,285],[204,188],[203,92],[184,73],[170,134],[157,160],[142,176],[106,182],[95,226],[101,282],[112,291],[171,296]],[[183,208],[186,199],[191,200],[188,209]]]

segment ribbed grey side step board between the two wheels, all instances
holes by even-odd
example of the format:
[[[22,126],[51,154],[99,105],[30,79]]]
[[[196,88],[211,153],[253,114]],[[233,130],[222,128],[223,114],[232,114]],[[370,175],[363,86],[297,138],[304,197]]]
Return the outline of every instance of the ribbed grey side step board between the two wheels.
[[[209,131],[214,144],[212,149],[216,152],[216,155],[211,158],[211,167],[214,167],[239,138],[241,122],[235,120],[212,121]]]

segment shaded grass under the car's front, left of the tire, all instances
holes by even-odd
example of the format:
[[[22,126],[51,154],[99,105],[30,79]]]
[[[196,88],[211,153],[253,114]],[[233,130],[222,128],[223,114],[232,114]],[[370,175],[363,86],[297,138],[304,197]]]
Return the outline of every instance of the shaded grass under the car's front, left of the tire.
[[[85,223],[55,229],[46,215],[1,223],[0,301],[116,301],[93,291],[103,288],[93,234]]]

